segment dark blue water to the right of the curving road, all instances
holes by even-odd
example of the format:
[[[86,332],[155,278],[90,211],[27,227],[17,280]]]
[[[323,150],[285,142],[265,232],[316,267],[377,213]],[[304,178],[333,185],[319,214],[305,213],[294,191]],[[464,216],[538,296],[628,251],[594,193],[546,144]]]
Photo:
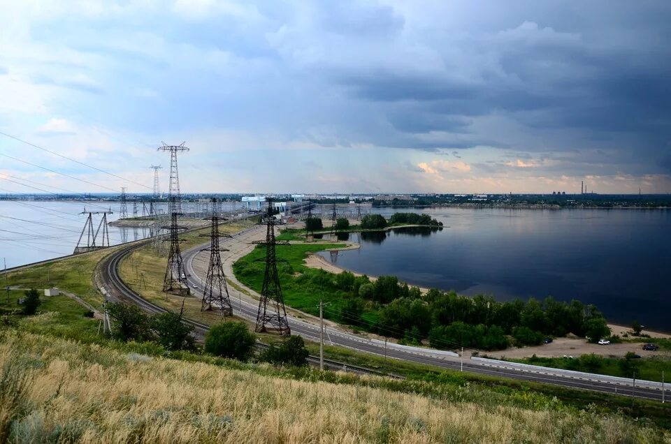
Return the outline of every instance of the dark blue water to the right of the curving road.
[[[373,209],[385,215],[391,209]],[[427,209],[445,225],[354,234],[361,249],[322,253],[370,276],[493,295],[596,304],[609,320],[671,331],[671,211]]]

